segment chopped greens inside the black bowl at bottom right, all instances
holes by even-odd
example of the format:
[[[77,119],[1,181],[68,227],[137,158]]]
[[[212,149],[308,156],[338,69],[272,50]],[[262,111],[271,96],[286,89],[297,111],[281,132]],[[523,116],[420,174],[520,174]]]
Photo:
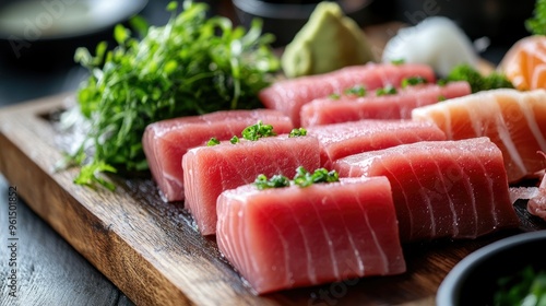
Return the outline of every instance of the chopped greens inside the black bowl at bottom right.
[[[546,272],[536,272],[531,266],[520,273],[499,279],[495,305],[546,305]]]

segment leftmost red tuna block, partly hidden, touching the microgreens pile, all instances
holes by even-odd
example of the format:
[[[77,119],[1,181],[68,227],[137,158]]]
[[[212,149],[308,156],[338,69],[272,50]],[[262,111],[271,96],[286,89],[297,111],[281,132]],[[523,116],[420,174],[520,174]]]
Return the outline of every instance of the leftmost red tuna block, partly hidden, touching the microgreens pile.
[[[273,109],[222,110],[202,116],[163,120],[146,127],[142,138],[144,153],[165,201],[183,200],[182,156],[211,138],[228,140],[259,120],[272,125],[276,133],[288,133],[292,121]]]

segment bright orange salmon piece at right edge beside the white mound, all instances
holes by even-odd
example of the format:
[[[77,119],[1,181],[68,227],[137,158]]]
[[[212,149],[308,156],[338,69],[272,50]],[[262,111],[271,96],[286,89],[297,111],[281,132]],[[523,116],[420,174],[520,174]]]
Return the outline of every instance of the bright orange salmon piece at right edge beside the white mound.
[[[520,91],[546,89],[546,36],[517,42],[505,55],[499,70]]]

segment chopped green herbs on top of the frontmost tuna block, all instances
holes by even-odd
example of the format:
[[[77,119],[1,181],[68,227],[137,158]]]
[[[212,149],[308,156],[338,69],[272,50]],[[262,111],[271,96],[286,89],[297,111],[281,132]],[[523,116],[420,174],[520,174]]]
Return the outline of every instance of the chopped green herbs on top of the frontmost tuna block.
[[[292,181],[284,175],[274,175],[268,179],[265,175],[261,174],[256,178],[254,185],[259,190],[263,190],[288,187],[290,184],[305,188],[313,184],[334,181],[340,181],[340,175],[335,170],[329,172],[325,168],[319,168],[313,173],[309,173],[306,168],[299,166]]]

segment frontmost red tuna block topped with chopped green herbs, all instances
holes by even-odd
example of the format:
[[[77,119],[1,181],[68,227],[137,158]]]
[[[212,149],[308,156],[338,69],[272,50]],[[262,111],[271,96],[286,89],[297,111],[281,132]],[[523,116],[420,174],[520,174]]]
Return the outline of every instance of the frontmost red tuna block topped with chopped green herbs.
[[[217,214],[221,252],[258,294],[406,269],[384,177],[246,185],[218,197]]]

